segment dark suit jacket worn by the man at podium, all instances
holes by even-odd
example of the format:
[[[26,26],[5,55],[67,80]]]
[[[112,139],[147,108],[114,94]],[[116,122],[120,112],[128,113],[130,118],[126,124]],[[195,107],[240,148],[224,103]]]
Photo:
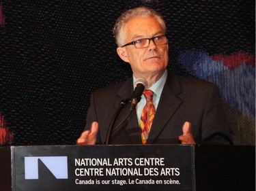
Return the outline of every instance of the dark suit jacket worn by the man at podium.
[[[111,119],[122,99],[130,98],[133,91],[132,77],[124,82],[101,88],[91,94],[91,105],[87,113],[87,125],[99,123],[97,143],[106,139]],[[122,109],[117,117],[117,126],[127,116],[130,105]],[[184,122],[192,123],[196,143],[231,143],[225,114],[218,88],[203,80],[168,73],[162,90],[156,115],[147,143],[180,143]],[[115,127],[114,127],[115,128]],[[141,144],[140,128],[136,111],[120,126],[111,144]]]

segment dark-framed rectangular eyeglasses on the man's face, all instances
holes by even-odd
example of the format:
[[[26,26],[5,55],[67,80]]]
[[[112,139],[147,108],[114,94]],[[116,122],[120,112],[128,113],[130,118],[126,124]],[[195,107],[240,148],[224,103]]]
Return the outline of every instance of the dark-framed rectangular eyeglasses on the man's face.
[[[124,46],[129,46],[129,45],[133,44],[135,46],[135,48],[147,48],[148,46],[150,46],[151,40],[154,41],[154,44],[156,46],[168,43],[167,35],[160,35],[160,36],[152,37],[152,38],[137,39],[136,41],[131,41],[128,44],[125,44]],[[122,46],[122,48],[124,46]]]

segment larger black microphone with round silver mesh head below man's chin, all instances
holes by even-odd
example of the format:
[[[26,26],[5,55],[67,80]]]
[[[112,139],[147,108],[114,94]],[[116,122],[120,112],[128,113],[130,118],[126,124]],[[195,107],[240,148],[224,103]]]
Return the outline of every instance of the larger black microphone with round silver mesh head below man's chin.
[[[139,103],[139,101],[141,101],[141,95],[143,93],[143,90],[145,90],[148,86],[147,80],[145,80],[144,78],[138,78],[136,80],[135,84],[135,89],[132,92],[132,97],[131,97],[131,107],[130,110],[133,110],[137,103]]]

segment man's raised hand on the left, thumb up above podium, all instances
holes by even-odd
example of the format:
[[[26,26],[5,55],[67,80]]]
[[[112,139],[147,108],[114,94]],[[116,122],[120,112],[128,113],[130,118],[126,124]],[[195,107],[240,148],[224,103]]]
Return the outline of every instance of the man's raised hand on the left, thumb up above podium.
[[[98,122],[91,123],[91,129],[84,131],[79,139],[76,140],[76,145],[95,145],[97,133],[99,129]]]

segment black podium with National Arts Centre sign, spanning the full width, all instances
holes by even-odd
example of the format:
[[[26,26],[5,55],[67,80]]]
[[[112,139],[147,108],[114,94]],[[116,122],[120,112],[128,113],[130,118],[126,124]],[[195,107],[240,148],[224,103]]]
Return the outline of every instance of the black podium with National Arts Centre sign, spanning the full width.
[[[1,191],[255,190],[255,146],[0,147]]]

